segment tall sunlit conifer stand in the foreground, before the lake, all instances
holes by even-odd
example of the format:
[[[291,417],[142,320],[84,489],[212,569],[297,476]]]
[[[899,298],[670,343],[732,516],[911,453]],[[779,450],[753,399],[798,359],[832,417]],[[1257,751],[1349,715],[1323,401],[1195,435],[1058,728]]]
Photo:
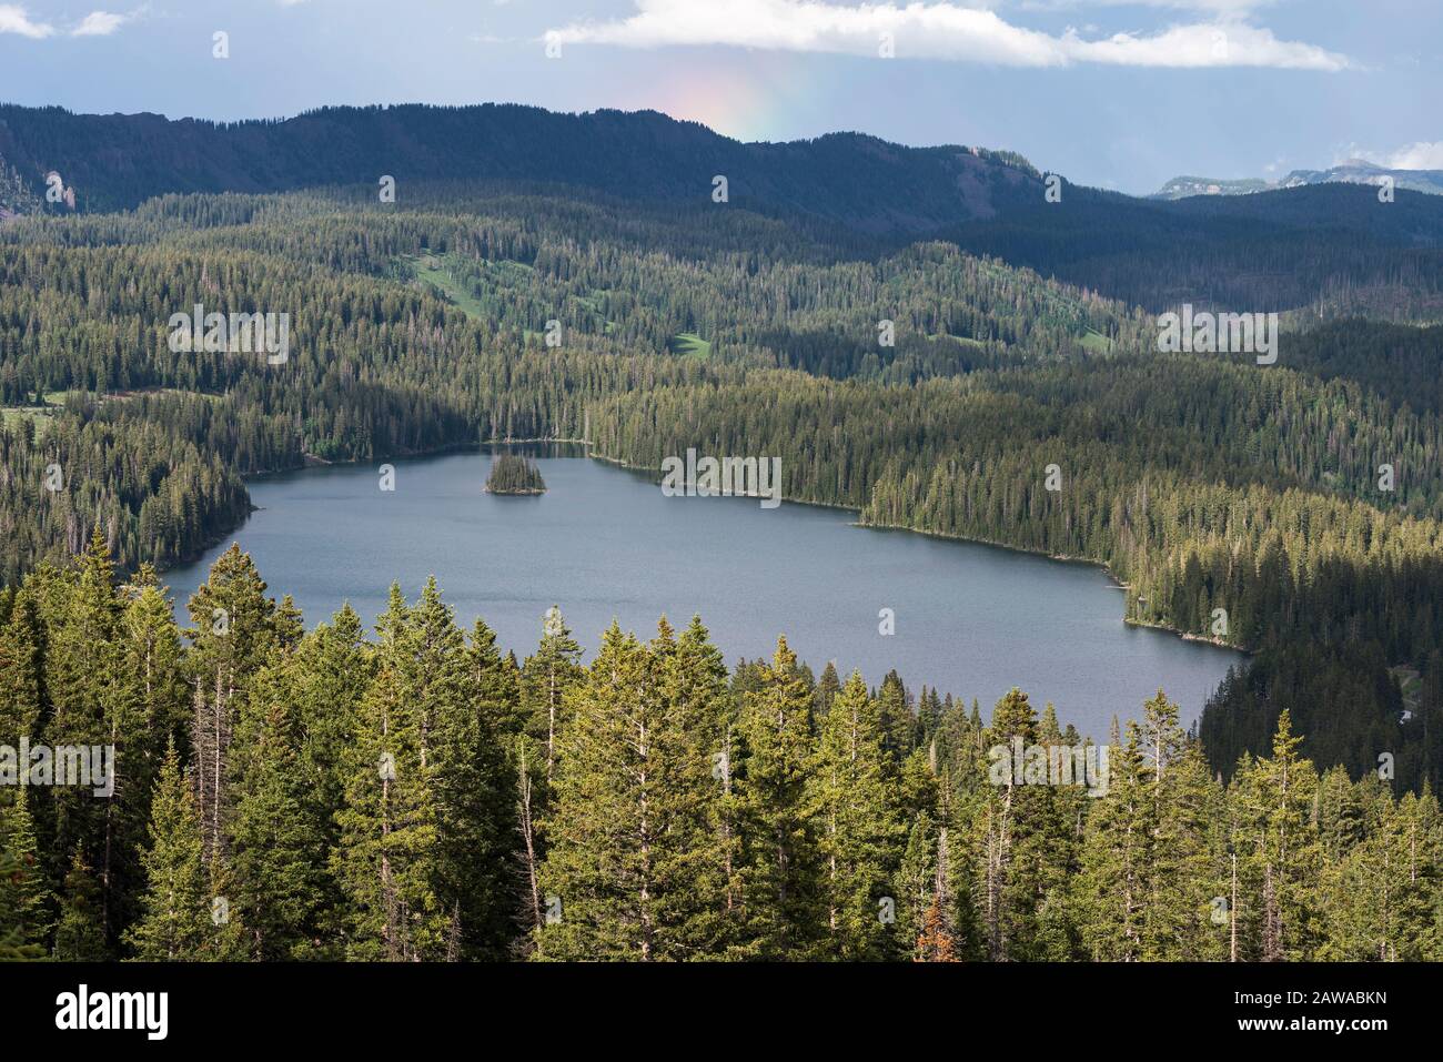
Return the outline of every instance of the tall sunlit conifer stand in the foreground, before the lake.
[[[1105,782],[1038,784],[994,749],[1095,746],[1023,691],[729,672],[700,619],[583,665],[553,610],[518,662],[433,582],[307,633],[234,548],[188,612],[101,535],[0,594],[0,726],[118,775],[0,789],[0,955],[1443,958],[1437,799],[1287,713],[1224,785],[1159,691]]]

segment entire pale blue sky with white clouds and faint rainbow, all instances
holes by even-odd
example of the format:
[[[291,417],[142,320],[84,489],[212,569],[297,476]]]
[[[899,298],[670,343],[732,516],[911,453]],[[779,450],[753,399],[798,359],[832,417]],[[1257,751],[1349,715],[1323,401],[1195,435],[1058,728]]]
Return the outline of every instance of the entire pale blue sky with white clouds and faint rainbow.
[[[1443,3],[0,0],[0,101],[652,108],[739,140],[1009,149],[1147,193],[1352,157],[1443,169]]]

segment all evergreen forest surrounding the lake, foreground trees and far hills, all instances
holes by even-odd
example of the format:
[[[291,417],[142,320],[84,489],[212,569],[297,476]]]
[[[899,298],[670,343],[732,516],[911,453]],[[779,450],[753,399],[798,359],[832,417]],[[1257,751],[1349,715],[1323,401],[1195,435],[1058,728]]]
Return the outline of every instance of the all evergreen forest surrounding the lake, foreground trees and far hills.
[[[863,186],[797,206],[851,150],[820,143],[729,203],[709,167],[687,202],[543,163],[391,202],[349,170],[12,195],[0,746],[113,746],[115,778],[0,786],[0,955],[1443,958],[1443,203],[1368,238],[1364,188],[1045,215],[974,153],[990,212],[883,225]],[[1214,283],[1242,253],[1268,268]],[[1157,351],[1159,307],[1242,291],[1277,364]],[[289,349],[176,343],[193,307],[284,313]],[[1159,690],[1098,734],[785,639],[729,667],[704,618],[587,659],[560,610],[499,645],[434,582],[302,616],[232,548],[166,586],[247,476],[538,439],[658,478],[778,456],[791,501],[1105,566],[1118,620],[1250,655],[1196,726]],[[498,459],[486,489],[544,486]],[[999,778],[999,746],[1105,746],[1108,782]]]

